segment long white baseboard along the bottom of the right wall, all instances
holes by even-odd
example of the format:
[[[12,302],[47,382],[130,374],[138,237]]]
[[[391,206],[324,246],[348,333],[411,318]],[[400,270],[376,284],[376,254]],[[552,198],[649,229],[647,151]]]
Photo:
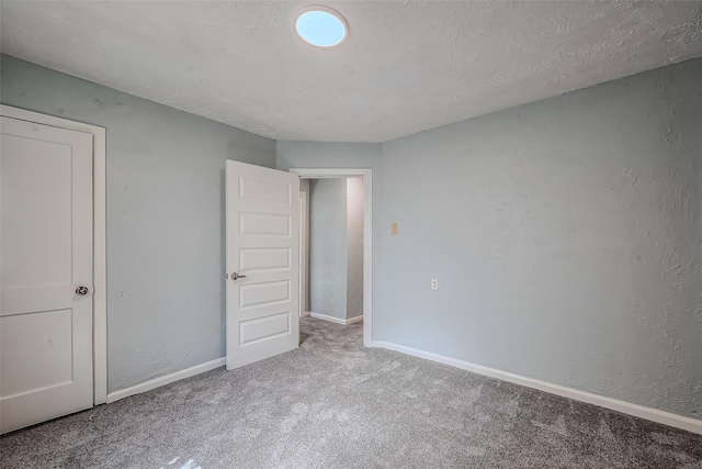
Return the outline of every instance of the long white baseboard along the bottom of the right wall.
[[[646,418],[652,422],[657,422],[664,425],[682,428],[688,432],[702,435],[702,421],[695,418],[683,417],[682,415],[671,414],[670,412],[645,407],[643,405],[632,404],[630,402],[593,394],[591,392],[579,391],[577,389],[566,388],[565,386],[553,384],[533,378],[526,378],[507,371],[497,370],[495,368],[488,368],[482,365],[472,364],[469,361],[458,360],[456,358],[446,357],[444,355],[432,354],[431,351],[419,350],[417,348],[406,347],[404,345],[397,345],[389,342],[374,340],[373,347],[387,348],[389,350],[399,351],[401,354],[412,355],[415,357],[424,358],[431,361],[438,361],[440,364],[461,368],[474,373],[501,379],[503,381],[513,382],[516,384],[525,386],[528,388],[539,389],[540,391],[548,392],[551,394],[574,399],[580,402],[587,402],[589,404],[599,405],[604,409],[610,409],[612,411],[621,412],[641,418]]]

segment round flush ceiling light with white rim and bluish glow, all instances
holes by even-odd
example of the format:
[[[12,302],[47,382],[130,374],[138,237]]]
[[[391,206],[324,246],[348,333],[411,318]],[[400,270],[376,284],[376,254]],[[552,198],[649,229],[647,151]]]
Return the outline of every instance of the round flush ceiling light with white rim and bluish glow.
[[[349,35],[349,23],[336,10],[313,4],[297,12],[295,31],[303,41],[317,47],[333,47]]]

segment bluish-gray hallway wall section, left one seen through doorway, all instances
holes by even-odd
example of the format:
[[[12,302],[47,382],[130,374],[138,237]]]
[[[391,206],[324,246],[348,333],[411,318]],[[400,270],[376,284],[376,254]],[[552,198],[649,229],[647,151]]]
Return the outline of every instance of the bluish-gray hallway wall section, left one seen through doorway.
[[[309,303],[347,319],[347,180],[309,181]]]

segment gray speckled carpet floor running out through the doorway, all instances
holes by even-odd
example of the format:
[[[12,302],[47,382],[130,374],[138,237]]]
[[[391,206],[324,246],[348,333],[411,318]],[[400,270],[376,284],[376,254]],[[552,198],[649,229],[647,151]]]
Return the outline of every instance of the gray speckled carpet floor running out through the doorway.
[[[298,349],[0,438],[1,468],[702,468],[702,436],[305,319]]]

